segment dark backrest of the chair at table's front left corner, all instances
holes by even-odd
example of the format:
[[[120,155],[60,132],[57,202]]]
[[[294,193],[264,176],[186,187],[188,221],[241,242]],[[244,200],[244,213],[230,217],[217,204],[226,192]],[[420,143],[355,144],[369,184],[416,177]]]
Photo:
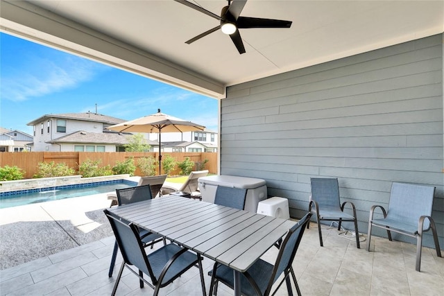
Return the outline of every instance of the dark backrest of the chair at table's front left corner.
[[[116,236],[117,245],[119,245],[123,261],[129,265],[135,265],[139,270],[149,275],[154,283],[156,279],[146,257],[146,252],[140,240],[137,227],[133,223],[126,224],[126,221],[119,220],[108,211],[108,209],[104,209],[103,211],[108,217],[108,220],[110,220],[110,225],[114,236]]]

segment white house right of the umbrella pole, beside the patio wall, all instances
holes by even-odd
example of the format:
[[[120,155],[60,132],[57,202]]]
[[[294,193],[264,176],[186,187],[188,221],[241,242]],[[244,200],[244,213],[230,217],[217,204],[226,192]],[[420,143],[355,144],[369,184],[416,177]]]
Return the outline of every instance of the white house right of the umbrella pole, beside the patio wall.
[[[158,142],[158,135],[158,133],[148,134],[148,139]],[[162,150],[164,152],[216,152],[217,147],[217,132],[212,130],[162,133]]]

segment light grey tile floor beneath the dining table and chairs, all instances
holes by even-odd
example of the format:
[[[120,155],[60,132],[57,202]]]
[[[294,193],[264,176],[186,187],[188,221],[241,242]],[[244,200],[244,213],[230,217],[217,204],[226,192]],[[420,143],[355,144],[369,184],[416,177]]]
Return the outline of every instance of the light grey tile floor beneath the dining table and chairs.
[[[365,241],[358,250],[354,241],[338,234],[324,227],[320,247],[316,225],[306,229],[293,262],[302,295],[444,295],[444,258],[433,249],[423,248],[421,272],[416,272],[416,245],[372,237],[373,252],[366,252]],[[114,276],[108,278],[113,245],[114,238],[107,236],[1,270],[0,295],[110,295],[121,263],[118,257]],[[273,263],[276,254],[272,248],[264,259]],[[208,293],[213,262],[205,258],[203,264]],[[117,295],[152,293],[148,286],[140,289],[128,271],[117,290]],[[160,295],[200,295],[198,269],[162,288]],[[221,285],[218,295],[232,295],[232,290]],[[287,295],[286,288],[277,295]]]

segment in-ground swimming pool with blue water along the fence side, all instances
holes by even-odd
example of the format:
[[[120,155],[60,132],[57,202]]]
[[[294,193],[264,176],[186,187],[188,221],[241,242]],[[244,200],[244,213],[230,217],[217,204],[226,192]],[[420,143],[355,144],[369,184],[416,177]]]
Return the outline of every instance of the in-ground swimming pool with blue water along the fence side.
[[[24,204],[33,204],[37,202],[48,202],[51,200],[77,198],[79,196],[112,192],[116,189],[128,188],[136,185],[136,182],[128,180],[111,180],[85,184],[72,184],[39,189],[1,192],[0,209],[22,206]]]

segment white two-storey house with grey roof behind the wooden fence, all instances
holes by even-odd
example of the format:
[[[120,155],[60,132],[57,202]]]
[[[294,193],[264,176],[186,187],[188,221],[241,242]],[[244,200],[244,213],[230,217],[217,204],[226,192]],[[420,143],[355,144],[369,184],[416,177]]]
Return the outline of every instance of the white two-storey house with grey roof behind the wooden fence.
[[[103,129],[124,121],[86,112],[45,114],[28,125],[34,130],[33,151],[115,152],[123,151],[131,134]]]

